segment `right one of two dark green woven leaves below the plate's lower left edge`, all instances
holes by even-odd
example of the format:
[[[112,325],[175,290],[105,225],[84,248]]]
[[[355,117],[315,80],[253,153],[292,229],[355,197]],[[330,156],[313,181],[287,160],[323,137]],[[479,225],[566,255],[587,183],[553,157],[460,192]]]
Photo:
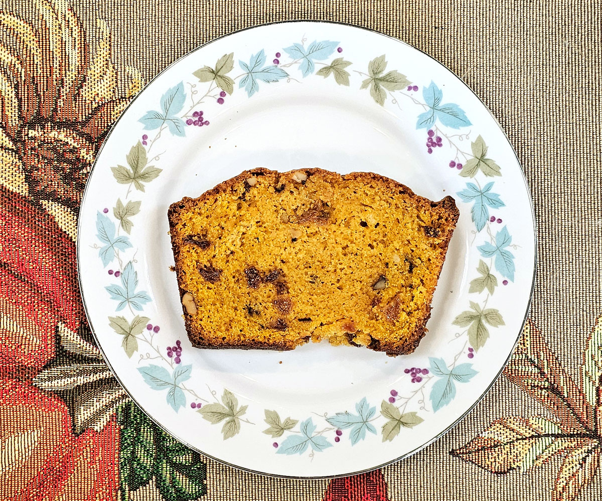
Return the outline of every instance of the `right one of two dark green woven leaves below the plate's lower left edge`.
[[[205,463],[198,452],[163,431],[157,432],[157,488],[166,501],[190,501],[207,492]]]

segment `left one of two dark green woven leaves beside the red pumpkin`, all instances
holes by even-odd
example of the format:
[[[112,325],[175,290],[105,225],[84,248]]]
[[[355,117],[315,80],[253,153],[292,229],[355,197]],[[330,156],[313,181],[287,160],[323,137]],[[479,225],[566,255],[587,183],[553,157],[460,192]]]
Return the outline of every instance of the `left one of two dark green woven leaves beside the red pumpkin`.
[[[133,402],[117,408],[119,431],[119,484],[123,491],[135,491],[152,477],[157,449],[151,420]]]

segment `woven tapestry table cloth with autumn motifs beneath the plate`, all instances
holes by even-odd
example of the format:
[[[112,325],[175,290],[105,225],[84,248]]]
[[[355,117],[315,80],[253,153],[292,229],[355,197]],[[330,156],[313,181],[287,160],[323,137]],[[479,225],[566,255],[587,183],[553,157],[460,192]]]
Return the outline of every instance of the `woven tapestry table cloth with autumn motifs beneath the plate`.
[[[0,499],[602,499],[599,2],[0,7]],[[129,98],[206,41],[288,19],[377,29],[448,66],[500,121],[538,218],[532,322],[504,376],[421,452],[334,481],[241,472],[162,434],[99,357],[75,276],[85,178]]]

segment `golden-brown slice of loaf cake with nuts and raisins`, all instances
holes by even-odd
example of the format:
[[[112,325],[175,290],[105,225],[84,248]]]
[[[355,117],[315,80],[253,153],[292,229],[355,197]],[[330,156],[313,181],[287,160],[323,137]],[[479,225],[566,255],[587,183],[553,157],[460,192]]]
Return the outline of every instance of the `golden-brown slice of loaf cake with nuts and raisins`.
[[[426,332],[459,212],[373,173],[256,168],[168,216],[194,346],[399,355]]]

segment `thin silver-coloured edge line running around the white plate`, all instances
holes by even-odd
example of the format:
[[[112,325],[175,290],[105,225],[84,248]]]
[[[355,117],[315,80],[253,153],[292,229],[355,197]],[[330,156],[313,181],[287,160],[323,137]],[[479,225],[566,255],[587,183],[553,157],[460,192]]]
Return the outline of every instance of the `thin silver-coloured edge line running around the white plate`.
[[[517,338],[516,338],[514,344],[512,345],[512,349],[510,350],[509,354],[507,355],[506,360],[501,365],[500,370],[495,375],[495,377],[491,380],[491,383],[488,384],[488,386],[483,391],[483,393],[481,393],[476,398],[476,400],[472,404],[470,404],[470,406],[467,408],[466,411],[464,411],[464,413],[462,413],[458,418],[456,418],[456,420],[454,420],[452,423],[450,423],[450,425],[448,425],[441,432],[439,432],[434,437],[430,438],[429,440],[427,440],[426,442],[424,442],[420,446],[415,447],[414,449],[409,450],[408,452],[405,452],[405,453],[403,453],[400,456],[397,456],[397,458],[394,458],[394,459],[389,460],[389,461],[385,461],[385,463],[378,464],[378,465],[373,466],[373,467],[369,467],[369,468],[357,470],[355,472],[338,473],[336,475],[311,475],[311,476],[307,476],[307,475],[283,475],[281,473],[260,472],[258,470],[253,470],[252,468],[249,468],[249,467],[240,466],[240,465],[237,465],[237,464],[230,463],[229,461],[225,461],[225,460],[222,460],[220,458],[217,458],[216,456],[208,454],[208,453],[204,452],[203,450],[200,450],[198,447],[193,446],[192,444],[188,443],[186,440],[182,440],[182,438],[177,437],[171,431],[169,431],[169,429],[167,429],[166,426],[164,426],[162,423],[158,422],[153,416],[151,416],[151,414],[149,414],[138,403],[137,399],[135,399],[134,396],[132,396],[132,394],[129,392],[129,390],[122,383],[122,380],[120,380],[119,376],[117,375],[117,373],[113,369],[113,365],[111,364],[110,360],[108,359],[107,355],[105,355],[105,352],[102,349],[102,345],[99,342],[99,337],[96,335],[95,328],[93,327],[92,319],[90,318],[90,315],[88,314],[88,307],[87,307],[87,304],[86,304],[86,301],[85,301],[84,294],[82,292],[83,287],[82,287],[82,266],[81,266],[81,260],[80,260],[80,257],[81,257],[80,256],[80,249],[81,249],[81,245],[82,245],[82,242],[81,242],[81,235],[82,235],[81,227],[83,226],[83,224],[82,224],[82,219],[79,218],[79,215],[78,215],[78,222],[77,222],[77,239],[76,239],[77,279],[78,279],[79,293],[80,293],[80,296],[81,296],[82,305],[84,306],[85,317],[86,317],[86,320],[88,322],[88,326],[90,327],[90,332],[92,333],[92,336],[93,336],[93,338],[94,338],[94,340],[96,342],[96,346],[98,347],[99,351],[101,352],[103,360],[105,361],[105,363],[107,364],[107,366],[111,370],[111,373],[113,373],[113,377],[117,380],[117,383],[119,383],[119,385],[123,388],[123,390],[125,390],[125,392],[129,396],[129,398],[131,399],[131,401],[134,402],[134,404],[138,407],[138,409],[140,409],[155,425],[157,425],[160,429],[162,429],[168,435],[170,435],[171,437],[173,437],[176,440],[180,441],[182,444],[184,444],[185,446],[187,446],[189,449],[195,450],[196,452],[200,453],[203,456],[206,456],[207,458],[210,458],[211,460],[217,461],[218,463],[221,463],[221,464],[225,464],[226,466],[232,467],[232,468],[237,469],[237,470],[242,470],[244,472],[253,473],[255,475],[263,475],[263,476],[268,476],[268,477],[272,477],[272,478],[281,478],[281,479],[296,479],[296,480],[320,480],[320,479],[344,478],[344,477],[347,477],[347,476],[359,475],[361,473],[367,473],[367,472],[372,472],[374,470],[379,470],[379,469],[382,469],[383,467],[389,466],[389,465],[391,465],[393,463],[397,463],[398,461],[401,461],[401,460],[403,460],[405,458],[409,458],[410,456],[413,456],[415,453],[420,452],[420,450],[422,450],[425,447],[429,446],[430,444],[432,444],[433,442],[435,442],[436,440],[438,440],[439,438],[441,438],[443,435],[447,434],[453,428],[455,428],[476,407],[476,405],[479,404],[479,402],[482,401],[483,398],[485,398],[485,395],[487,395],[487,393],[489,393],[489,390],[491,390],[491,387],[500,378],[501,373],[503,372],[504,368],[508,364],[508,361],[510,360],[510,357],[512,357],[512,354],[514,354],[514,351],[515,351],[515,349],[516,349],[516,347],[518,345],[518,341],[520,340],[521,334],[523,332],[524,326],[525,326],[525,324],[526,324],[526,322],[528,320],[529,311],[530,311],[531,304],[532,304],[532,301],[533,301],[533,293],[535,292],[535,282],[536,282],[537,263],[538,263],[538,228],[537,228],[537,219],[536,219],[536,215],[535,215],[535,205],[533,203],[532,191],[530,189],[529,182],[527,181],[527,177],[525,175],[525,171],[524,171],[523,165],[521,164],[521,161],[518,158],[518,155],[517,155],[517,152],[515,150],[515,147],[510,142],[510,138],[506,134],[506,131],[504,131],[504,129],[502,128],[502,126],[501,126],[500,122],[498,121],[498,119],[491,112],[491,109],[489,109],[489,106],[487,106],[485,104],[485,102],[483,102],[483,100],[477,95],[477,93],[471,87],[469,87],[467,85],[467,83],[464,81],[464,79],[462,79],[459,75],[457,75],[446,64],[444,64],[441,61],[437,60],[432,55],[427,54],[427,52],[424,52],[422,49],[419,49],[419,48],[415,47],[414,45],[411,45],[410,43],[406,42],[405,40],[402,40],[400,38],[396,38],[396,37],[394,37],[392,35],[385,34],[383,32],[377,31],[376,29],[373,29],[373,28],[367,28],[365,26],[359,26],[359,25],[355,25],[355,24],[352,24],[352,23],[346,23],[346,22],[342,22],[342,21],[322,20],[322,19],[291,19],[291,20],[281,20],[281,21],[273,21],[273,22],[260,23],[260,24],[253,25],[253,26],[247,26],[246,28],[237,29],[235,31],[232,31],[232,32],[220,35],[219,37],[216,37],[213,40],[209,40],[206,43],[204,43],[202,45],[199,45],[196,48],[192,49],[191,51],[188,51],[186,54],[181,55],[179,58],[177,58],[176,60],[172,61],[172,63],[170,63],[164,69],[162,69],[160,72],[158,72],[157,75],[155,75],[150,81],[148,81],[144,85],[144,87],[140,91],[140,93],[136,94],[130,100],[130,102],[128,103],[128,105],[120,113],[119,117],[117,117],[117,119],[111,125],[111,128],[107,132],[107,135],[105,135],[105,138],[104,138],[104,140],[103,140],[103,142],[101,144],[100,149],[96,153],[94,162],[92,164],[92,168],[90,168],[90,173],[88,174],[88,179],[86,180],[86,183],[85,183],[85,186],[84,186],[84,192],[82,194],[81,203],[79,205],[79,207],[80,207],[79,212],[81,212],[81,207],[84,206],[84,203],[85,203],[85,200],[86,200],[86,196],[87,196],[87,194],[89,192],[90,183],[88,181],[90,180],[90,177],[92,177],[93,171],[95,170],[96,165],[98,164],[98,161],[99,161],[99,158],[101,156],[102,150],[104,149],[105,146],[107,146],[107,140],[108,140],[108,138],[111,136],[111,134],[113,134],[114,130],[117,127],[117,124],[125,116],[126,112],[133,105],[133,103],[135,102],[135,100],[137,100],[141,96],[141,94],[144,91],[144,88],[148,87],[150,84],[152,84],[152,82],[154,82],[158,78],[160,78],[160,76],[162,76],[164,73],[166,73],[167,71],[169,71],[173,66],[175,66],[176,64],[178,64],[181,60],[183,60],[184,58],[189,57],[194,52],[200,51],[200,49],[205,48],[206,46],[210,45],[211,43],[214,43],[216,41],[222,40],[223,38],[229,37],[230,35],[233,35],[233,34],[237,34],[237,33],[243,32],[243,31],[248,31],[250,29],[264,28],[264,27],[267,27],[267,26],[281,25],[281,24],[286,24],[286,23],[316,23],[316,24],[320,23],[320,24],[330,24],[330,25],[345,26],[346,28],[362,29],[364,31],[370,32],[371,34],[376,34],[376,35],[379,35],[381,37],[389,38],[389,40],[393,40],[393,41],[395,41],[397,43],[401,43],[401,44],[407,46],[408,48],[411,48],[411,49],[419,52],[421,55],[429,58],[430,60],[432,60],[433,62],[435,62],[439,66],[443,67],[445,70],[447,70],[454,78],[458,79],[458,81],[461,82],[461,84],[464,85],[464,87],[467,88],[470,91],[470,93],[473,94],[473,96],[477,98],[477,100],[479,100],[480,105],[483,106],[483,108],[488,112],[488,114],[492,118],[492,120],[494,120],[495,125],[497,126],[497,128],[499,129],[499,131],[501,132],[501,134],[503,134],[503,137],[506,139],[506,142],[507,142],[508,146],[512,150],[512,153],[514,154],[514,158],[515,158],[515,160],[516,160],[516,162],[518,164],[518,167],[520,167],[520,173],[521,173],[521,177],[523,179],[524,186],[527,188],[527,193],[529,194],[529,207],[531,209],[531,219],[532,219],[532,224],[533,224],[533,274],[532,274],[532,277],[531,277],[531,288],[530,288],[530,292],[529,292],[529,299],[527,300],[526,310],[525,310],[525,313],[524,313],[524,316],[523,316],[523,322],[521,323],[521,328],[518,331]]]

